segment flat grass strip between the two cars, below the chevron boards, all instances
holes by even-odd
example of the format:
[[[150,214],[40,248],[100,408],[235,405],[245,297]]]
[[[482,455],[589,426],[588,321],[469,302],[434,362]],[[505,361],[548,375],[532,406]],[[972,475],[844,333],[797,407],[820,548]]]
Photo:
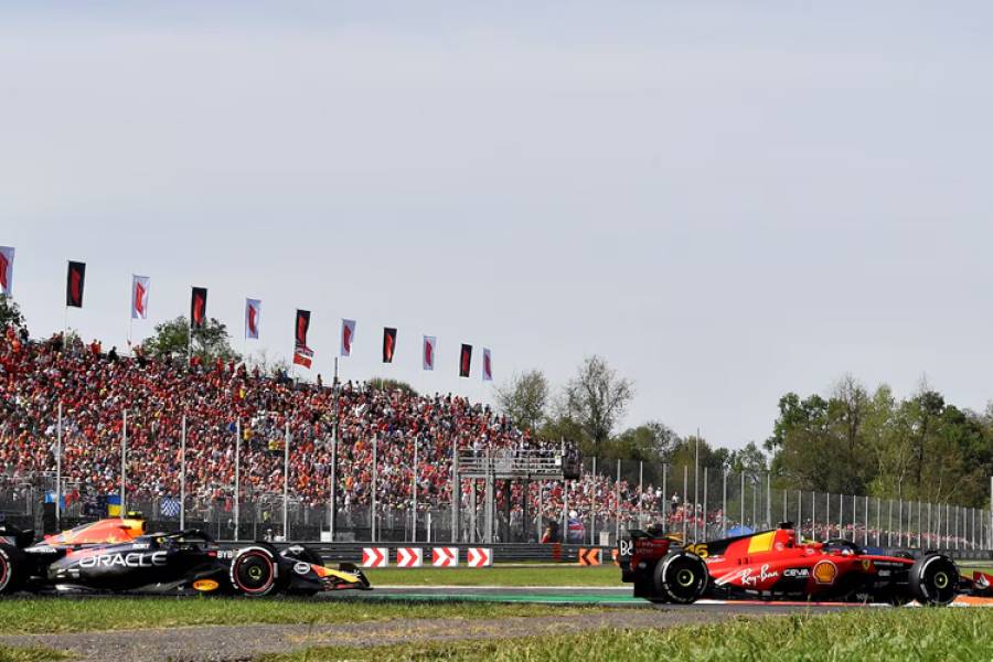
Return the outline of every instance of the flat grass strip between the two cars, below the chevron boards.
[[[375,586],[623,586],[620,568],[577,565],[364,570]]]

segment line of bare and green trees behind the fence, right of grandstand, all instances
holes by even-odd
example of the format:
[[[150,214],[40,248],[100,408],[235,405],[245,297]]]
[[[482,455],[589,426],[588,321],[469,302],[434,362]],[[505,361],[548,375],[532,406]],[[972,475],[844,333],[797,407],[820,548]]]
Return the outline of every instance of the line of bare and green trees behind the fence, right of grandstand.
[[[993,405],[983,413],[960,408],[927,384],[903,399],[886,385],[869,392],[852,376],[826,395],[787,393],[769,438],[739,449],[680,436],[660,421],[621,429],[633,395],[631,381],[591,356],[557,393],[534,370],[501,385],[496,403],[540,437],[577,442],[586,457],[642,462],[645,481],[655,484],[663,465],[692,472],[698,444],[701,471],[768,471],[777,489],[990,504]]]

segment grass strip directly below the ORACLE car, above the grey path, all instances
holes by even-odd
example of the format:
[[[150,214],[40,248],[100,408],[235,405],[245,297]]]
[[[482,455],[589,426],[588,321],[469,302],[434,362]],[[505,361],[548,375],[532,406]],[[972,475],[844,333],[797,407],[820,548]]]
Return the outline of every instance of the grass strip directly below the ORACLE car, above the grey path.
[[[588,607],[484,602],[370,602],[348,598],[4,598],[0,633],[34,634],[110,629],[245,623],[334,624],[391,618],[504,618],[578,615]]]

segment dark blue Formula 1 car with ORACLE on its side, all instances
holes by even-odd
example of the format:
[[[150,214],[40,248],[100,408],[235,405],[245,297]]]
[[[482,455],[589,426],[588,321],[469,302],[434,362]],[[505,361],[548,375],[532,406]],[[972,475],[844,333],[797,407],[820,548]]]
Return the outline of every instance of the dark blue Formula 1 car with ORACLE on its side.
[[[302,545],[276,549],[247,543],[218,546],[197,530],[146,533],[136,517],[100,520],[34,542],[34,532],[0,523],[0,595],[141,592],[159,595],[314,595],[369,589],[352,564],[325,567]]]

